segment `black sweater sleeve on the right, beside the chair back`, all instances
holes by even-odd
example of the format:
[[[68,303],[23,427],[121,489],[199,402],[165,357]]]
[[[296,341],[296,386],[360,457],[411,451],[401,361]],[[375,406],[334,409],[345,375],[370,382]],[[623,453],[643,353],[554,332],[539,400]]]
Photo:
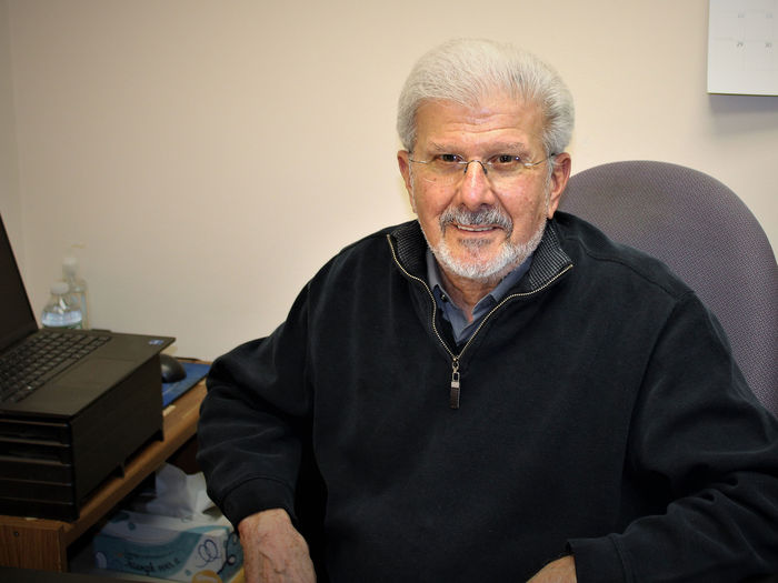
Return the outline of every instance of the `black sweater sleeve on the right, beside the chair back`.
[[[778,422],[694,295],[644,376],[626,473],[671,502],[600,539],[569,541],[578,581],[740,581],[778,573]]]

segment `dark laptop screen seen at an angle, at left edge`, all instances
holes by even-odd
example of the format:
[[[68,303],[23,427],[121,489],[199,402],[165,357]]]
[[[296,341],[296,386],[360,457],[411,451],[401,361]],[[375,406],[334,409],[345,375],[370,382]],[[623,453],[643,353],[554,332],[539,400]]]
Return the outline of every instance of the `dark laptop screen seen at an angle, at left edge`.
[[[36,330],[38,323],[0,217],[0,350]]]

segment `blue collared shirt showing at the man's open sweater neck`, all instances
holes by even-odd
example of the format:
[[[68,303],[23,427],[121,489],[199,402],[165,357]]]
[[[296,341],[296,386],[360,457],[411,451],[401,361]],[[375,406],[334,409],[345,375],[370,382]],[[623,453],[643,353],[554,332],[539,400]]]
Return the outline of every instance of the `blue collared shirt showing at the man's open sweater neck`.
[[[468,322],[465,312],[449,299],[448,293],[443,290],[442,279],[438,271],[438,262],[432,251],[429,248],[427,249],[427,281],[432,290],[438,308],[443,313],[443,318],[451,324],[453,339],[457,341],[457,344],[462,344],[472,335],[483,318],[506,296],[508,290],[527,273],[531,262],[532,255],[529,255],[523,263],[502,278],[502,281],[491,292],[478,301],[472,310],[472,322]]]

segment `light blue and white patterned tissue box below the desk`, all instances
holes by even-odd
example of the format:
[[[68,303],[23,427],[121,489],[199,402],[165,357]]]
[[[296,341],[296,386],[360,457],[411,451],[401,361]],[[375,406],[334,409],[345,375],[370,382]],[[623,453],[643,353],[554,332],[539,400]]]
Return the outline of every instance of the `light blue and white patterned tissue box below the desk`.
[[[229,582],[243,563],[229,521],[120,511],[92,541],[100,569],[174,581]]]

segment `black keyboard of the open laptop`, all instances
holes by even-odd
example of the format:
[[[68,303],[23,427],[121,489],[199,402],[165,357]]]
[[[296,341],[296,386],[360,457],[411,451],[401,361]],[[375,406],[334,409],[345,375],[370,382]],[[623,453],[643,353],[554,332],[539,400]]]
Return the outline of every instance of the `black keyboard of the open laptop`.
[[[41,332],[0,356],[0,402],[17,403],[111,338]]]

